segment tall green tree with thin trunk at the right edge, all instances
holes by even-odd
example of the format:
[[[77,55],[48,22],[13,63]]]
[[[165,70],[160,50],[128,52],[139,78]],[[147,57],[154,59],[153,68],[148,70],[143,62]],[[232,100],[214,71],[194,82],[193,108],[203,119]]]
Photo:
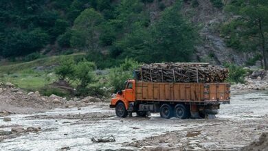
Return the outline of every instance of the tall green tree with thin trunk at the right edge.
[[[234,27],[228,32],[225,30],[225,34],[231,35],[230,39],[238,45],[245,45],[245,49],[260,49],[265,69],[268,70],[268,1],[232,0],[227,4],[226,11],[239,17],[231,22]]]

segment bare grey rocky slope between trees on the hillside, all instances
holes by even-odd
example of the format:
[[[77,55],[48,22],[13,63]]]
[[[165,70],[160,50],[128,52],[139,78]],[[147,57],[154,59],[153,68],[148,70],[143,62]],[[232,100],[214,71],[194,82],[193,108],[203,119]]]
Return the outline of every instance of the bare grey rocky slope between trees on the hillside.
[[[199,29],[201,38],[199,45],[196,46],[197,54],[193,59],[216,65],[223,65],[224,62],[243,65],[249,54],[227,47],[217,29],[227,19],[225,12],[214,8],[210,0],[198,0],[198,2],[197,8],[193,8],[187,2],[183,5],[183,13],[190,16],[191,21]]]

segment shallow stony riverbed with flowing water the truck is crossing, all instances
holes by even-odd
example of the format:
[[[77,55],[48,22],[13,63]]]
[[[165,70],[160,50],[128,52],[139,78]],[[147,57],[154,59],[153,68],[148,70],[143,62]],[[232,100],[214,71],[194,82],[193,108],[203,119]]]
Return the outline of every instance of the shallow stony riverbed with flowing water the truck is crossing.
[[[216,119],[162,119],[115,117],[107,103],[89,103],[78,108],[56,108],[45,113],[10,115],[0,119],[0,130],[14,125],[40,126],[40,132],[5,137],[5,150],[239,150],[268,131],[268,95],[233,95],[232,104],[221,106]],[[0,117],[1,118],[1,117]],[[115,142],[93,143],[92,137]],[[195,136],[197,135],[197,136]],[[187,137],[186,137],[187,136]],[[0,136],[1,137],[1,136]],[[49,144],[49,146],[47,145]]]

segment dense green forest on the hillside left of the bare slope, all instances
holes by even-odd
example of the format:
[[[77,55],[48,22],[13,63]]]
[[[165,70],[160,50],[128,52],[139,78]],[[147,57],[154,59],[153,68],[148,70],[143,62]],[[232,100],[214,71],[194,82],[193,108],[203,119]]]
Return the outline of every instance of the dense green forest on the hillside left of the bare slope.
[[[197,31],[181,15],[181,2],[161,7],[154,22],[148,3],[153,1],[1,1],[0,56],[33,60],[38,52],[75,49],[98,68],[124,58],[190,61]]]

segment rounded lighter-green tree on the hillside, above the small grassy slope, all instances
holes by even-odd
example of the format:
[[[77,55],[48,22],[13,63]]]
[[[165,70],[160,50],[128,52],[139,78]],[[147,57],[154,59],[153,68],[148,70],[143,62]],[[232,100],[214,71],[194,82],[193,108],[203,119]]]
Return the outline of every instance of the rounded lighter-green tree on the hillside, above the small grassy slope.
[[[74,21],[71,46],[91,52],[98,51],[102,21],[102,14],[99,12],[92,8],[84,10]]]

